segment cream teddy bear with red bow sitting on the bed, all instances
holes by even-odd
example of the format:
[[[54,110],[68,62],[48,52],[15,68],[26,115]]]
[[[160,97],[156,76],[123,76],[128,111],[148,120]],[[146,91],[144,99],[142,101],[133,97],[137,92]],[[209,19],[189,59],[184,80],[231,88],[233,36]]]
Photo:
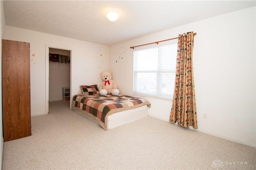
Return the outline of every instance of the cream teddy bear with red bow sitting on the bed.
[[[100,83],[99,91],[100,95],[112,94],[114,96],[119,94],[119,90],[117,89],[117,84],[114,80],[112,80],[112,72],[104,71],[100,73],[100,77],[102,79],[102,83]]]

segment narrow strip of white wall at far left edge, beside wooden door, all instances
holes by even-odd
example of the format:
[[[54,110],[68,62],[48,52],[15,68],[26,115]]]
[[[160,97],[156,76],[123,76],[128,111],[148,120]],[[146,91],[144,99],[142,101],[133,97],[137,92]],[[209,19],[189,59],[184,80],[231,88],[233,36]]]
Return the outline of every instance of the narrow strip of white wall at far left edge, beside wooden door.
[[[4,38],[5,34],[5,20],[4,20],[4,3],[1,0],[0,1],[0,51],[1,51],[1,59],[0,59],[0,65],[2,68],[2,39]],[[0,79],[2,80],[2,69],[0,70]],[[0,81],[0,87],[2,88],[2,81]],[[4,146],[4,137],[3,137],[3,126],[2,126],[2,90],[0,91],[0,169],[2,169],[2,156],[3,156],[3,146]]]

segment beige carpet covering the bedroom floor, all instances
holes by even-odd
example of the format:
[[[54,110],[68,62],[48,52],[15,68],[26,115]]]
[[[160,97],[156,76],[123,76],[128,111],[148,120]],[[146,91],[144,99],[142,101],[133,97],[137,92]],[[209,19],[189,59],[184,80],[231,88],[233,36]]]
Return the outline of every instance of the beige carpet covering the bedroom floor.
[[[69,103],[32,117],[32,136],[4,142],[2,169],[256,169],[256,148],[146,117],[105,131]]]

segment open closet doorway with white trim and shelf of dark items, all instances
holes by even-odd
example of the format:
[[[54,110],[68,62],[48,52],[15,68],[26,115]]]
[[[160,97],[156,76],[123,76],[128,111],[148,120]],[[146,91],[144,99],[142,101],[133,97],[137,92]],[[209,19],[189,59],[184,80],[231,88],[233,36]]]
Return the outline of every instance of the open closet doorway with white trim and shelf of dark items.
[[[46,45],[46,114],[49,112],[49,102],[63,101],[69,102],[71,108],[71,56],[72,50]],[[53,57],[54,56],[54,57]],[[70,93],[62,95],[62,87],[65,92],[70,88]]]

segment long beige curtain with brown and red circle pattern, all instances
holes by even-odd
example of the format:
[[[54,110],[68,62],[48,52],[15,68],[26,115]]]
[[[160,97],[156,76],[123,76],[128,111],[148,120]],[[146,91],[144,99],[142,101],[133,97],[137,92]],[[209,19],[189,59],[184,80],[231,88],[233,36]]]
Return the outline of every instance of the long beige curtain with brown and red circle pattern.
[[[194,34],[188,32],[178,37],[176,79],[170,123],[189,128],[197,128],[196,99],[193,74]]]

